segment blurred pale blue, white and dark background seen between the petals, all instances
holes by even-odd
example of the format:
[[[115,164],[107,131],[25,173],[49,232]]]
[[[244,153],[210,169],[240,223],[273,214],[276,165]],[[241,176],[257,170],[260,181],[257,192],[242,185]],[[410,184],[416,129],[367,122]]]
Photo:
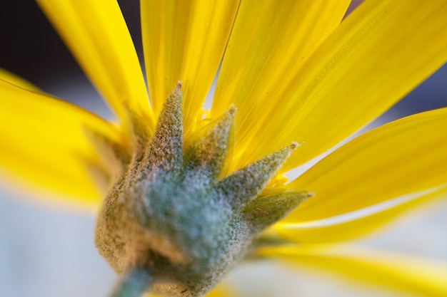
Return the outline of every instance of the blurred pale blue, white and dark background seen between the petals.
[[[139,1],[119,2],[141,53]],[[0,38],[1,68],[104,118],[111,116],[34,1],[0,1]],[[378,123],[447,106],[446,78],[444,66]],[[107,296],[116,276],[94,248],[94,217],[41,207],[0,185],[0,296]],[[447,202],[441,201],[359,241],[447,260],[445,226]],[[338,276],[269,263],[238,268],[229,280],[239,280],[242,296],[397,296]]]

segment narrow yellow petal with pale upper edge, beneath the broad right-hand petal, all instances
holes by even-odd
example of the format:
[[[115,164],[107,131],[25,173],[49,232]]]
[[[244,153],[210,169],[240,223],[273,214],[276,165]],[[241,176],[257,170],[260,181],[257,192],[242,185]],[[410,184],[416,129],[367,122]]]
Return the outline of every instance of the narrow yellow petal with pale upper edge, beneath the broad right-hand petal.
[[[327,219],[298,223],[279,222],[264,234],[299,243],[345,241],[377,231],[403,213],[417,209],[432,200],[445,199],[446,195],[447,187],[440,187]]]

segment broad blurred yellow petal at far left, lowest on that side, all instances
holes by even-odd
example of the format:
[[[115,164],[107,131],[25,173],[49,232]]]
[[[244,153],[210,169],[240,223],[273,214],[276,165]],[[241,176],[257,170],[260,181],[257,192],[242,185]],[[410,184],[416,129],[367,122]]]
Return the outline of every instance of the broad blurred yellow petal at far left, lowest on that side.
[[[109,172],[88,137],[119,144],[119,132],[81,108],[4,80],[0,92],[1,175],[66,198],[60,202],[96,207],[101,192],[91,170]]]

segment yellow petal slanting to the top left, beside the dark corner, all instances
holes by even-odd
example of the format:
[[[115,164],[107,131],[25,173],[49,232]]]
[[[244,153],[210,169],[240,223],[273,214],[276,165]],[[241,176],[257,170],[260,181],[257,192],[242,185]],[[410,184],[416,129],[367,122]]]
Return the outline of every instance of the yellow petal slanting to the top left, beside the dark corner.
[[[121,120],[141,115],[154,129],[138,57],[114,0],[38,0],[86,75]]]

